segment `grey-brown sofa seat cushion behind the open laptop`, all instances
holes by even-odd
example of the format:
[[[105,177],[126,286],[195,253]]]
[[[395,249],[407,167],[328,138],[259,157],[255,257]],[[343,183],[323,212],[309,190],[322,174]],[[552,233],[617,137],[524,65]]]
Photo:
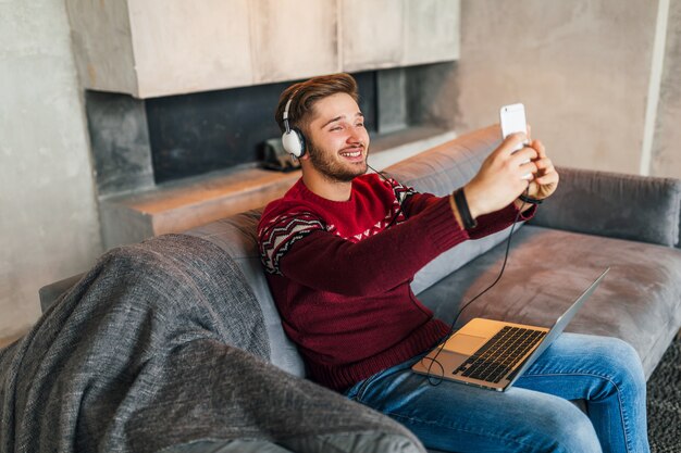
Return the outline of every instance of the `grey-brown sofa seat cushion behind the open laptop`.
[[[633,345],[646,376],[681,327],[681,251],[622,239],[524,226],[515,235],[504,277],[461,314],[550,326],[608,266],[610,272],[567,331],[618,337]],[[488,286],[505,244],[472,261],[419,299],[450,323]]]

